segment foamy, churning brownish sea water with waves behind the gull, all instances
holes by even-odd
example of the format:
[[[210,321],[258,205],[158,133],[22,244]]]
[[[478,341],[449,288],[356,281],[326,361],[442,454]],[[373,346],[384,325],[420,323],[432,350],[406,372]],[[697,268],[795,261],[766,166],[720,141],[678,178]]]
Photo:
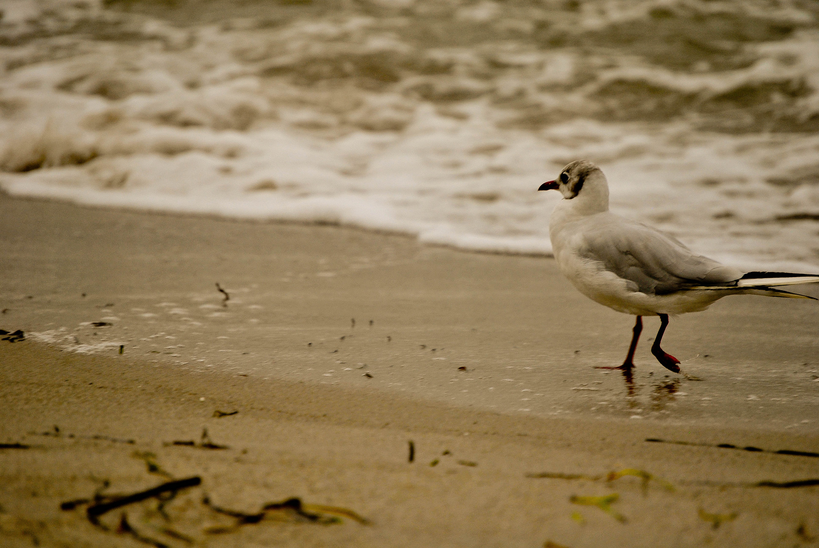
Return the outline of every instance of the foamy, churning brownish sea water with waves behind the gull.
[[[812,0],[4,0],[0,187],[550,254],[564,164],[819,271]]]

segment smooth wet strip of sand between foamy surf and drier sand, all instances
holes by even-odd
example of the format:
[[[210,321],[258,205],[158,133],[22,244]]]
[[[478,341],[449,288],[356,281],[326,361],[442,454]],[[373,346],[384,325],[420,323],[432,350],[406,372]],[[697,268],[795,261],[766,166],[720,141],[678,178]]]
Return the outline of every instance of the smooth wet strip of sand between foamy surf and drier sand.
[[[551,259],[346,227],[0,207],[2,329],[62,348],[125,344],[169,366],[369,383],[490,411],[819,432],[812,302],[735,297],[672,319],[666,344],[684,375],[650,355],[648,318],[627,378],[595,366],[622,361],[630,317],[579,294]],[[228,307],[215,282],[233,296]]]

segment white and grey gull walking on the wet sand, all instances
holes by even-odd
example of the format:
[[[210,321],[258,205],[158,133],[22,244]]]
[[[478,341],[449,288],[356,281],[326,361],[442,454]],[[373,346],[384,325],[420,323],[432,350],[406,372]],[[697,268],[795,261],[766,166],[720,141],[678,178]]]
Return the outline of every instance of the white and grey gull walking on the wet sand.
[[[593,301],[637,317],[626,361],[607,369],[634,367],[644,316],[660,317],[651,353],[666,369],[679,373],[680,360],[660,348],[669,315],[703,311],[727,295],[813,299],[774,287],[815,283],[819,276],[742,272],[695,254],[661,231],[611,213],[609,183],[589,161],[568,164],[557,179],[537,190],[563,195],[549,221],[554,258],[563,276]]]

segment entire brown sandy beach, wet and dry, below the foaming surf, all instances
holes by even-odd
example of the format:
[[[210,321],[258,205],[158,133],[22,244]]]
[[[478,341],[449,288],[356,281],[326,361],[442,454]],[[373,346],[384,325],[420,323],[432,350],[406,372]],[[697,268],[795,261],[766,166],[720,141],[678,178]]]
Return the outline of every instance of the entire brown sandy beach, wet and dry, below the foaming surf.
[[[627,380],[550,258],[5,195],[0,243],[3,546],[819,539],[815,302],[672,320],[685,375],[649,318]]]

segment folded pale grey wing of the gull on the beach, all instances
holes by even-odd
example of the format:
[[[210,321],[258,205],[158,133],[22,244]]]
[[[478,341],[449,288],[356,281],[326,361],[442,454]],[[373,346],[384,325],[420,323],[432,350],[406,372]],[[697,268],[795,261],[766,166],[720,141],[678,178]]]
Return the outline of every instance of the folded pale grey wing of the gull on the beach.
[[[638,222],[606,222],[583,233],[581,256],[631,282],[632,290],[668,294],[699,285],[736,284],[742,272],[694,254],[671,236]]]

